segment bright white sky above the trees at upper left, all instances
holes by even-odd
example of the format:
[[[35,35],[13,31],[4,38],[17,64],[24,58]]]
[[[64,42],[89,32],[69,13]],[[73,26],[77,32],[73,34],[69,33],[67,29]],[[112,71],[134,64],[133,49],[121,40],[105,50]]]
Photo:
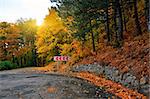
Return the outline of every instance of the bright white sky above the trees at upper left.
[[[40,25],[51,6],[50,0],[0,0],[0,22],[32,18]]]

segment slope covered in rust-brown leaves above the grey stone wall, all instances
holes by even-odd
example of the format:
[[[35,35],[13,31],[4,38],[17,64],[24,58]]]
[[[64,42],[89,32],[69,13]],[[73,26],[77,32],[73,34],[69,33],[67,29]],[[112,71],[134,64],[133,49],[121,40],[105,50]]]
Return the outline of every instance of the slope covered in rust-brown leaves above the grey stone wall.
[[[101,45],[102,46],[102,45]],[[77,64],[107,64],[121,72],[131,72],[138,78],[148,76],[149,68],[149,34],[145,33],[132,39],[126,39],[121,48],[103,45],[97,55],[88,56]]]

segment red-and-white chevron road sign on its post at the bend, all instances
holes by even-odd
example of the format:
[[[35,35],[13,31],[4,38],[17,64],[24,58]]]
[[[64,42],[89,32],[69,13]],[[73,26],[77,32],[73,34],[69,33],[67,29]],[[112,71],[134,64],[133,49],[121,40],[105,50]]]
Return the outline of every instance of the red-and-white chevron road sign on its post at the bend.
[[[69,56],[54,56],[54,61],[57,62],[56,70],[59,69],[59,65],[61,61],[68,61]]]

